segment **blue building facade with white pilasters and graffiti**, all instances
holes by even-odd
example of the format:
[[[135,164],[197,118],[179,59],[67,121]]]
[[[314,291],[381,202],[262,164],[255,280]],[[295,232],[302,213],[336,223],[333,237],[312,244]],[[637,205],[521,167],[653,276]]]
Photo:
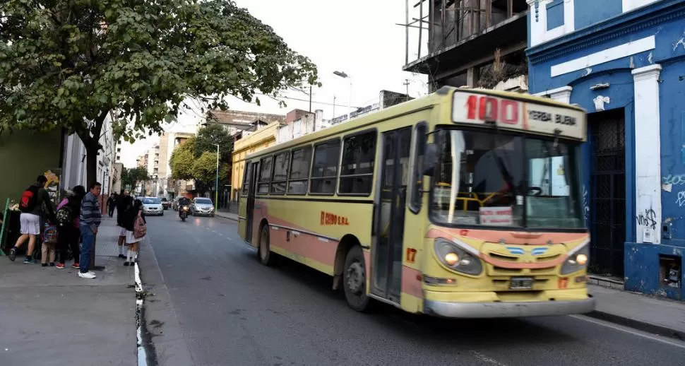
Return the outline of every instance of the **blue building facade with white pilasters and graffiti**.
[[[685,0],[528,0],[530,93],[588,111],[590,271],[685,300]]]

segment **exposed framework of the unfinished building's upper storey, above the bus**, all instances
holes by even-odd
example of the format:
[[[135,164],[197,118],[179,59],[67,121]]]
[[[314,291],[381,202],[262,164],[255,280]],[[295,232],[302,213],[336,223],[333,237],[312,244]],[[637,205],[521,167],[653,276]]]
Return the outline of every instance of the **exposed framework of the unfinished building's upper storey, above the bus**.
[[[477,37],[527,10],[525,0],[405,0],[405,23],[398,24],[405,27],[405,64]],[[417,51],[411,59],[414,42]]]

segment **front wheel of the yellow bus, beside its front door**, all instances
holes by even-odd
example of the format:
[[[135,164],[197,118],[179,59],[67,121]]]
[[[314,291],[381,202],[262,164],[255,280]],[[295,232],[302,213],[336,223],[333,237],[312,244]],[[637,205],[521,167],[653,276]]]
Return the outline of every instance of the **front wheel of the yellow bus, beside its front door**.
[[[347,251],[345,267],[342,269],[342,288],[347,305],[357,312],[369,312],[371,297],[367,295],[367,274],[362,247],[355,245]]]

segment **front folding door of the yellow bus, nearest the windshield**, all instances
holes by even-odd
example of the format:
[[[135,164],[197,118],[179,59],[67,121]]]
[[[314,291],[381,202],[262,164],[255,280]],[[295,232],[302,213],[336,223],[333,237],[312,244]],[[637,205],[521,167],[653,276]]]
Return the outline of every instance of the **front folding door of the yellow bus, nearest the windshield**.
[[[405,203],[412,128],[381,135],[380,183],[377,185],[372,293],[400,303]]]

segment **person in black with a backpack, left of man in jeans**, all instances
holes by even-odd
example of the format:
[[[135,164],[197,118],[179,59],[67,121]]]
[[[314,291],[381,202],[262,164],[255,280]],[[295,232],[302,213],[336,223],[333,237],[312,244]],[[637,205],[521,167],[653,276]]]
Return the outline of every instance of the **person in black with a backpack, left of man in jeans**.
[[[59,222],[59,235],[57,236],[59,263],[56,265],[57,269],[64,268],[70,247],[71,254],[73,254],[71,268],[78,269],[78,261],[81,259],[78,248],[78,240],[81,238],[81,230],[78,228],[78,217],[81,215],[81,201],[83,201],[83,196],[85,196],[85,187],[76,186],[73,187],[72,191],[73,195],[63,199],[59,206],[57,206],[56,216]],[[62,219],[61,216],[63,215],[68,215],[68,219]]]

